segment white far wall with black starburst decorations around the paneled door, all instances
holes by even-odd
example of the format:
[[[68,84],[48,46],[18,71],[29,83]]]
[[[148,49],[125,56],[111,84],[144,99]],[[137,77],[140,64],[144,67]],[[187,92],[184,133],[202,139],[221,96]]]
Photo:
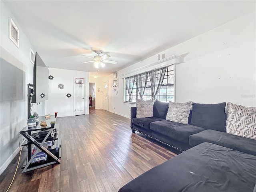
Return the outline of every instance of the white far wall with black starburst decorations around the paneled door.
[[[49,75],[53,80],[49,80],[49,99],[45,101],[45,113],[54,114],[58,112],[58,117],[74,115],[74,78],[84,78],[85,82],[85,114],[89,114],[89,72],[49,68]],[[58,88],[63,84],[64,88]],[[68,98],[66,94],[70,93]]]

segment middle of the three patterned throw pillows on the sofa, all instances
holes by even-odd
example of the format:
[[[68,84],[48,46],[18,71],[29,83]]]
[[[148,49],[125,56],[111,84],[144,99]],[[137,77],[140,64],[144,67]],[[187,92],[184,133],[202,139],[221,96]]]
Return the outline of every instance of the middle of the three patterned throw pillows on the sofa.
[[[192,101],[185,103],[174,103],[170,101],[166,120],[188,124],[188,116],[192,103]]]

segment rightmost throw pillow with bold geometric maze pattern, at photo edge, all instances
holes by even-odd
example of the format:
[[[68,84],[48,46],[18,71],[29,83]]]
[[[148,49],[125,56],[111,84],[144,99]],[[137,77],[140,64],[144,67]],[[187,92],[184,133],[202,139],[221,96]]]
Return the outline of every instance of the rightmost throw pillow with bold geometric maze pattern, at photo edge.
[[[256,139],[256,108],[227,103],[226,132]]]

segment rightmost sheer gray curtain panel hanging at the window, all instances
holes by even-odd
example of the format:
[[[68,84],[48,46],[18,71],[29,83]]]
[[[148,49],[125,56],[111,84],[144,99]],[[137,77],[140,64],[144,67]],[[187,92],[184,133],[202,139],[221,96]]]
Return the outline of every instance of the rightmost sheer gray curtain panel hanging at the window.
[[[156,100],[156,95],[158,94],[162,87],[165,72],[166,68],[149,72],[153,102]]]

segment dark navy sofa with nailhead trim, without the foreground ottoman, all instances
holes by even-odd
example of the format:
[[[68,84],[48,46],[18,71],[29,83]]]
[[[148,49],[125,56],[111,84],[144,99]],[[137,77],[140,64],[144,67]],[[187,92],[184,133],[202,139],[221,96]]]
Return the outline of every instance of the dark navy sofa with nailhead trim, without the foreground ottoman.
[[[168,103],[156,100],[153,117],[136,118],[136,107],[131,108],[131,129],[180,152],[210,142],[256,156],[255,139],[226,133],[225,106],[193,103],[188,124],[181,124],[166,120]]]

